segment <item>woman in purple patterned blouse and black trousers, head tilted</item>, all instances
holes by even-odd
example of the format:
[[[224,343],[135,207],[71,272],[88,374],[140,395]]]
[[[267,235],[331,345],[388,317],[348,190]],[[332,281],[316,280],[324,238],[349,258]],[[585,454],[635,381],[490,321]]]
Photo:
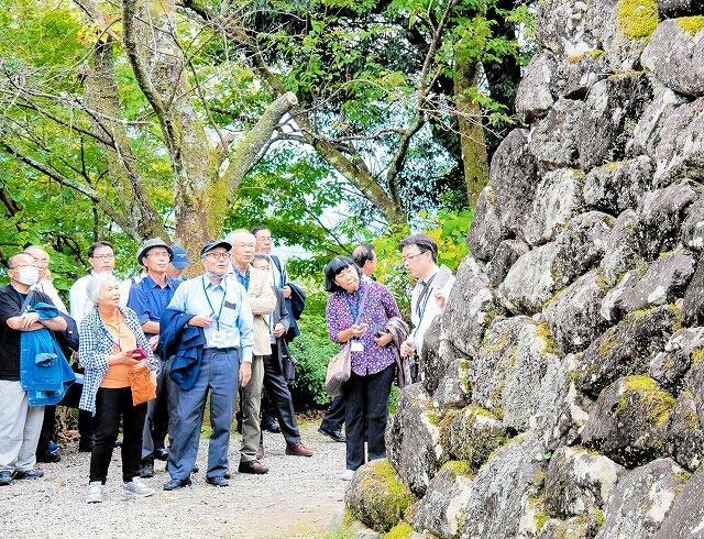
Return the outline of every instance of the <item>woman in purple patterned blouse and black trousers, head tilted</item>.
[[[351,341],[352,373],[344,385],[346,471],[352,479],[364,464],[364,427],[369,460],[384,459],[384,432],[388,396],[396,370],[389,318],[399,317],[396,300],[378,283],[361,282],[360,268],[346,256],[336,256],[326,266],[326,290],[330,292],[326,317],[334,342]]]

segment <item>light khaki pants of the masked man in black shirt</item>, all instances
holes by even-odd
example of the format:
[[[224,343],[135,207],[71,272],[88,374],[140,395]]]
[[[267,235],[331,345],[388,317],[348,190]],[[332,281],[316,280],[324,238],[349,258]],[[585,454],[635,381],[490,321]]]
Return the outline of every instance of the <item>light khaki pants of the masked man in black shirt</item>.
[[[0,380],[0,471],[34,468],[43,421],[44,407],[30,406],[20,382]]]

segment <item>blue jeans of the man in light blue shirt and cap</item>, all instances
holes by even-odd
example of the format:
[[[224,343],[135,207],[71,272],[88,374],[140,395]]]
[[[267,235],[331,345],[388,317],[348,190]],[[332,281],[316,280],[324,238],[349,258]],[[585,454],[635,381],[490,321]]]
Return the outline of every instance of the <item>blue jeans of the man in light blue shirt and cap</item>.
[[[221,477],[230,468],[228,449],[230,428],[238,393],[240,353],[235,349],[206,349],[200,360],[196,384],[188,391],[178,388],[178,418],[174,426],[174,443],[168,453],[168,473],[186,480],[196,464],[200,427],[210,391],[210,446],[207,477]]]

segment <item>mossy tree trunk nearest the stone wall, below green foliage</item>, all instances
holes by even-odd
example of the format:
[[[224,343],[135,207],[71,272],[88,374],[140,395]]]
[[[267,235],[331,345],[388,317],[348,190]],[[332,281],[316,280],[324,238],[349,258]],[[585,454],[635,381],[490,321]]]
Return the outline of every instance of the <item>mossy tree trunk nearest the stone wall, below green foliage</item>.
[[[454,96],[460,128],[460,146],[468,201],[476,204],[481,190],[488,183],[488,157],[482,124],[482,109],[473,90],[479,84],[480,64],[458,61],[454,74]]]

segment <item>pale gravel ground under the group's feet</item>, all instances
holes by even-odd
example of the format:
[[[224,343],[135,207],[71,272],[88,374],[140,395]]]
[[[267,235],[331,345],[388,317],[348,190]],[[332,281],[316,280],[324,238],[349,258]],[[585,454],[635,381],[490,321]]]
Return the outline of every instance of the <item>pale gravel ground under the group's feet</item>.
[[[105,502],[84,502],[90,455],[73,442],[56,464],[40,464],[45,475],[0,487],[0,537],[324,537],[341,519],[346,483],[344,444],[302,427],[311,458],[287,457],[280,435],[265,433],[266,475],[234,473],[230,486],[205,481],[208,440],[201,440],[200,472],[194,485],[162,490],[168,474],[157,461],[156,475],[146,482],[154,496],[122,499],[120,450],[108,473]],[[230,464],[237,469],[240,437],[230,442]]]

